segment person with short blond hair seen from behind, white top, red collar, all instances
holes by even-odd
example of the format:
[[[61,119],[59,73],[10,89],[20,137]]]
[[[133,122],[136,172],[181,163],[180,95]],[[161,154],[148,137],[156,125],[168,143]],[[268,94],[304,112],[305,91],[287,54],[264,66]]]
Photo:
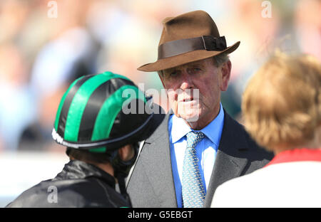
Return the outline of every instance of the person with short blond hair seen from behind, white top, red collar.
[[[321,65],[276,53],[243,95],[250,135],[275,157],[218,186],[212,207],[321,207]]]

